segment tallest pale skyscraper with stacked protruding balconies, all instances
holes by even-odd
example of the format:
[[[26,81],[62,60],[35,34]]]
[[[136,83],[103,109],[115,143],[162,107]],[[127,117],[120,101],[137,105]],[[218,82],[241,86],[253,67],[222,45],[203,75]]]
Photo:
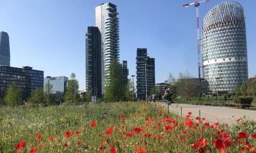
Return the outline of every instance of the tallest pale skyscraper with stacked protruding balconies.
[[[96,26],[99,28],[102,40],[102,93],[105,87],[105,75],[111,61],[119,61],[119,14],[116,5],[109,2],[95,8]]]

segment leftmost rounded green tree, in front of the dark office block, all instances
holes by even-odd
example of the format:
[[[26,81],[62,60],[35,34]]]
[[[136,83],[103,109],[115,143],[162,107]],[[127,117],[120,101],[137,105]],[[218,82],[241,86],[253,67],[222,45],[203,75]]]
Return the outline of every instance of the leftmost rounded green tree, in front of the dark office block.
[[[11,85],[8,87],[4,101],[7,105],[10,106],[17,106],[22,104],[22,92],[15,83],[11,83]]]

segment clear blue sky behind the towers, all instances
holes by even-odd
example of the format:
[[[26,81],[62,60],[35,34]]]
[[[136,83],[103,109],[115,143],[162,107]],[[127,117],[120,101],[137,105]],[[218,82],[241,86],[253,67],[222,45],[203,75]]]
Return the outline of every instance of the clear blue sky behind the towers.
[[[200,4],[205,14],[225,0]],[[236,0],[245,12],[249,77],[256,74],[255,0]],[[11,66],[31,66],[46,76],[76,73],[85,89],[85,33],[95,26],[95,7],[111,2],[120,18],[120,61],[136,74],[136,49],[156,60],[156,83],[189,70],[198,77],[196,9],[193,0],[0,0],[0,31],[9,34]]]

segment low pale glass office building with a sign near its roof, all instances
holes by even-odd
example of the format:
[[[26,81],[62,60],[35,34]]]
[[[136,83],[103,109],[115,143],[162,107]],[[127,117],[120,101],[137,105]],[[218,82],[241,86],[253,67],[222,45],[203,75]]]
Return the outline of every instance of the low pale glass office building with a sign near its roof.
[[[65,76],[44,78],[44,92],[48,92],[47,87],[51,87],[49,92],[53,94],[56,99],[62,99],[64,98],[68,81],[69,78]]]

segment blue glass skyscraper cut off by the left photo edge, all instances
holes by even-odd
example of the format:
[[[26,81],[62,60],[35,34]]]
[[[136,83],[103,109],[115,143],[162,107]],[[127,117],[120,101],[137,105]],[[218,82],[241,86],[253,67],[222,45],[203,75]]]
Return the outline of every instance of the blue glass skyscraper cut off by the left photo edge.
[[[0,32],[0,66],[10,66],[9,35]]]

